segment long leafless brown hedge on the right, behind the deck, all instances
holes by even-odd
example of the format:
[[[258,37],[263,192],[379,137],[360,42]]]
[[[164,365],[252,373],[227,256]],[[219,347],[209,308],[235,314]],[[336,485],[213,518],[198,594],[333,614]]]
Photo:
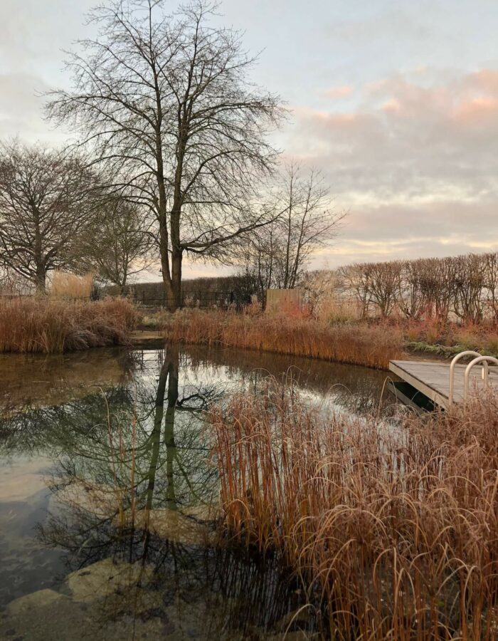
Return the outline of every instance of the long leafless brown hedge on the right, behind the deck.
[[[498,253],[352,264],[333,272],[331,293],[363,318],[498,320]]]

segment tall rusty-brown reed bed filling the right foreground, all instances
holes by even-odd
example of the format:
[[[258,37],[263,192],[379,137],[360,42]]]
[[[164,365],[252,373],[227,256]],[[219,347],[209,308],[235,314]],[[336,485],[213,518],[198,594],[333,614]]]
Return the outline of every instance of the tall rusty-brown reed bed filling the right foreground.
[[[498,398],[404,418],[272,384],[211,412],[228,536],[279,553],[341,640],[498,638]]]

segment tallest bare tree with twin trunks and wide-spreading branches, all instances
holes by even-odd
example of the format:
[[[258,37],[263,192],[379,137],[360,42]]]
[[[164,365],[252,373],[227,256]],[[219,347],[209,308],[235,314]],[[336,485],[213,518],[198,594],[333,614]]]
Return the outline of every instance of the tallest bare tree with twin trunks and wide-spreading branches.
[[[282,109],[250,83],[255,58],[240,33],[212,26],[215,11],[202,0],[172,15],[162,0],[98,7],[90,19],[99,36],[68,61],[74,88],[53,93],[48,107],[98,162],[120,167],[115,189],[132,187],[154,213],[171,308],[186,252],[216,258],[275,217],[255,203],[275,162],[267,134]]]

